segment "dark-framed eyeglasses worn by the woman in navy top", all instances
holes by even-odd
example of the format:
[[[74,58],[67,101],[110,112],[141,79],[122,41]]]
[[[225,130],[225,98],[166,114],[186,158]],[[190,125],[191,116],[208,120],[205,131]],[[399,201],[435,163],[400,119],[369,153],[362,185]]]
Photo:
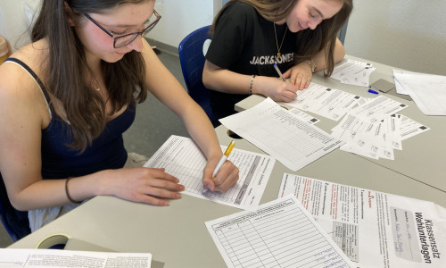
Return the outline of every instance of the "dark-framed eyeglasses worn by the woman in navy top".
[[[155,27],[156,23],[158,23],[158,21],[160,21],[160,19],[161,19],[161,15],[159,13],[157,13],[155,10],[153,10],[153,15],[155,18],[153,19],[153,15],[152,15],[149,18],[149,20],[145,21],[145,29],[143,29],[142,31],[132,32],[129,34],[120,35],[118,37],[115,37],[113,34],[111,34],[110,31],[106,30],[105,28],[103,28],[103,26],[101,26],[99,23],[97,23],[95,20],[93,20],[87,13],[83,13],[83,15],[86,16],[86,18],[88,20],[95,23],[95,25],[97,27],[102,29],[111,38],[114,38],[114,42],[113,42],[114,48],[120,48],[122,46],[127,46],[128,44],[133,42],[133,40],[135,40],[137,38],[137,36],[139,36],[139,35],[141,35],[141,37],[144,37],[149,31],[151,31]]]

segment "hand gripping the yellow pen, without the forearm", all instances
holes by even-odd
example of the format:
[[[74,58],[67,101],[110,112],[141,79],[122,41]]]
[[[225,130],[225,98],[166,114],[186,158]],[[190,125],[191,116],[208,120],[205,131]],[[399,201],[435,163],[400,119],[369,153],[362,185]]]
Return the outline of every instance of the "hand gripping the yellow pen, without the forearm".
[[[212,178],[212,173],[215,167],[219,163],[219,158],[211,159],[204,167],[202,185],[204,189],[211,191],[226,192],[228,188],[231,188],[237,183],[238,180],[238,168],[234,163],[226,161],[219,169],[219,172]]]

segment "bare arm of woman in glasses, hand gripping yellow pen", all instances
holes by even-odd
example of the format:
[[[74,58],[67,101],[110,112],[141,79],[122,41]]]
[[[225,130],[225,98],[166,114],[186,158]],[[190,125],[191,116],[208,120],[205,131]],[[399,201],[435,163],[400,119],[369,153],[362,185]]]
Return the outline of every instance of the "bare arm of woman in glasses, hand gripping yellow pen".
[[[221,167],[214,180],[211,180],[212,172],[223,153],[211,121],[202,107],[186,93],[145,41],[142,54],[146,63],[145,79],[149,90],[185,123],[186,130],[208,159],[203,172],[204,188],[226,191],[234,186],[238,180],[238,169],[229,161]]]

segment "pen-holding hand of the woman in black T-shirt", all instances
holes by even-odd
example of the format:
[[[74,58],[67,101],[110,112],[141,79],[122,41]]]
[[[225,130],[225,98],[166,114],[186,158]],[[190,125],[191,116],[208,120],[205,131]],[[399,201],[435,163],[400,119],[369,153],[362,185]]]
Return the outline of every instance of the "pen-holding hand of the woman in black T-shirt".
[[[297,97],[298,87],[280,78],[257,76],[252,84],[252,93],[269,96],[276,102],[291,102]]]

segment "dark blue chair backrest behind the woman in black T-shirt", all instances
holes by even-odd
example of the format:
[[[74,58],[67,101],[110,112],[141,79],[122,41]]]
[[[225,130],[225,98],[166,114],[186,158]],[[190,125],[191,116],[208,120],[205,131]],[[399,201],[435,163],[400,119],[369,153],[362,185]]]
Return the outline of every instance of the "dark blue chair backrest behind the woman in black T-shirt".
[[[211,118],[211,105],[209,89],[202,84],[202,69],[204,66],[204,54],[202,45],[206,39],[210,39],[210,25],[196,29],[184,38],[178,46],[179,63],[185,78],[187,92],[194,101],[202,106],[202,109]]]

